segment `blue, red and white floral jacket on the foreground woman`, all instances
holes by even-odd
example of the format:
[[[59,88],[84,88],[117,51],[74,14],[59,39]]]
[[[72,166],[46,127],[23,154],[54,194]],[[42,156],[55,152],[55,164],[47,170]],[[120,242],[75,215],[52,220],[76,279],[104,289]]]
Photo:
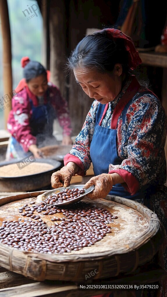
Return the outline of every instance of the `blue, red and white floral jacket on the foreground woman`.
[[[129,77],[118,96],[109,102],[102,127],[110,129],[114,108],[132,81]],[[69,154],[64,158],[65,165],[74,162],[79,166],[77,174],[84,176],[90,167],[90,143],[95,129],[98,101],[94,101],[82,131],[76,138]],[[146,184],[162,185],[166,181],[166,160],[164,153],[166,117],[159,99],[141,86],[127,110],[125,123],[122,114],[118,118],[117,153],[121,165],[109,165],[108,173],[118,173],[126,182],[124,187],[132,195]]]

